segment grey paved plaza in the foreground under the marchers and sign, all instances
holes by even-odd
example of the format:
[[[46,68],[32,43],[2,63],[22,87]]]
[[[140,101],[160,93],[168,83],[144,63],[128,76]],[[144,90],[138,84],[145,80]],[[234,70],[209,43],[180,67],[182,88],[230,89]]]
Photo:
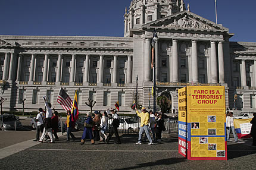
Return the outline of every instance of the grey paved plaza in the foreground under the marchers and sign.
[[[5,139],[7,133],[10,137]],[[6,147],[0,147],[0,158],[2,158],[0,169],[255,169],[256,167],[256,147],[251,146],[251,139],[239,140],[238,143],[228,142],[228,160],[187,160],[178,152],[176,133],[152,146],[148,146],[147,142],[136,145],[137,134],[120,134],[122,144],[114,144],[114,140],[111,140],[110,144],[96,141],[95,145],[92,145],[90,141],[86,141],[81,146],[82,131],[74,133],[77,138],[74,142],[67,142],[64,134],[54,144],[33,141],[35,133],[33,131],[0,132],[1,140],[10,143],[6,144]],[[29,137],[30,140],[27,140]],[[13,142],[15,138],[20,141]],[[3,156],[5,154],[10,156]]]

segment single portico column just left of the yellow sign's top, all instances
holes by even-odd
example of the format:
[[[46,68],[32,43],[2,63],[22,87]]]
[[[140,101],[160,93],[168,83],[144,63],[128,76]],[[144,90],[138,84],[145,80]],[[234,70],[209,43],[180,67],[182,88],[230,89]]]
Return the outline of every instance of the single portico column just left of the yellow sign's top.
[[[178,40],[173,39],[173,82],[179,81]]]

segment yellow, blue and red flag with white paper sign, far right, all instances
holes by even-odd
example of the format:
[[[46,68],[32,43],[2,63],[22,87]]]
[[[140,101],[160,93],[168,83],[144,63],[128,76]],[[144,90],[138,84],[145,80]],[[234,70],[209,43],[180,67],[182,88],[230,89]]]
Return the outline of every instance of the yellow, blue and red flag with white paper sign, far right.
[[[238,138],[251,137],[251,120],[252,119],[234,119],[234,127]]]

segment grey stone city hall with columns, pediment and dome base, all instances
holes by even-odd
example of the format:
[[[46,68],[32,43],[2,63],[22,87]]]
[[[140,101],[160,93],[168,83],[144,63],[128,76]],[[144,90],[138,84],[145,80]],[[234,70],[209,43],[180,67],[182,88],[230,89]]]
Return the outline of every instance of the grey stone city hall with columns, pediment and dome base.
[[[152,108],[151,40],[154,30],[157,96],[168,98],[177,112],[178,89],[185,86],[225,86],[226,107],[256,111],[256,43],[230,42],[229,29],[200,17],[182,0],[133,0],[124,12],[124,37],[0,36],[0,89],[4,111],[43,108],[43,96],[56,102],[60,87],[79,110],[104,111],[120,103]],[[138,81],[137,80],[138,76]],[[234,96],[237,98],[234,100]],[[235,105],[235,106],[234,106]]]

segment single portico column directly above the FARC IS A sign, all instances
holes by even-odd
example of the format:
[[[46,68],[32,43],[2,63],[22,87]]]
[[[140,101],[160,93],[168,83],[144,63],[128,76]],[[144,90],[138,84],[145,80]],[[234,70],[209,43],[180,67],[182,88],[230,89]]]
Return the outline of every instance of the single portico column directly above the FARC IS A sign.
[[[196,40],[192,40],[192,80],[194,83],[198,83],[198,55]]]

